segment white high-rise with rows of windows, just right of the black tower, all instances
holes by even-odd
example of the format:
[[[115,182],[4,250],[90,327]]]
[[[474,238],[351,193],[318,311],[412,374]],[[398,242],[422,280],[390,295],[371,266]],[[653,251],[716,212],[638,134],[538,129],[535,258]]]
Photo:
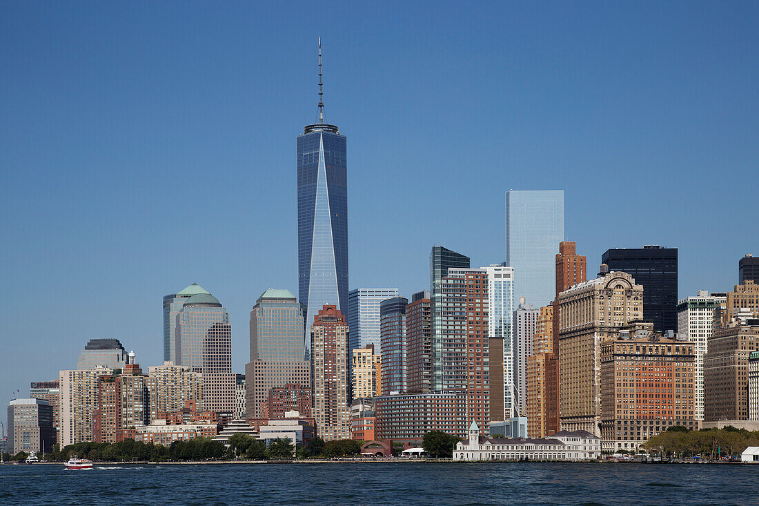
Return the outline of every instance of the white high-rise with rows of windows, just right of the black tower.
[[[704,419],[704,356],[716,317],[725,303],[726,297],[698,290],[697,297],[682,299],[677,304],[677,335],[694,346],[693,415],[697,420]]]

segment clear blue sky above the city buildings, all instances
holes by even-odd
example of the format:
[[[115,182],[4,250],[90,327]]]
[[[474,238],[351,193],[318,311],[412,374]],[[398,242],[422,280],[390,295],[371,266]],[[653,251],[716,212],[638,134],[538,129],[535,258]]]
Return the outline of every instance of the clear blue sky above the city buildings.
[[[162,296],[298,293],[295,138],[348,139],[350,286],[505,257],[505,191],[565,236],[679,248],[679,296],[759,255],[756,2],[0,3],[0,398],[115,337],[162,361]],[[4,410],[0,410],[4,414]],[[2,416],[2,415],[0,415]]]

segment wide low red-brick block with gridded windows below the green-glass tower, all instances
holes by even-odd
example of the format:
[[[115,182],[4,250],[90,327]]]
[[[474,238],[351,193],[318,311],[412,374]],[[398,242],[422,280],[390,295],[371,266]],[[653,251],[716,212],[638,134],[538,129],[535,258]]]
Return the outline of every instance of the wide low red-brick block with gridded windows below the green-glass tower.
[[[467,433],[465,392],[383,395],[373,401],[376,439],[419,444],[430,431],[459,438]]]

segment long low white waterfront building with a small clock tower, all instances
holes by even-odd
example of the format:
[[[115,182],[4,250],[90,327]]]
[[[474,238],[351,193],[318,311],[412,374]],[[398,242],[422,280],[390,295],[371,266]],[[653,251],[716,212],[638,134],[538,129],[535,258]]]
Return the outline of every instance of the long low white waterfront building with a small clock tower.
[[[597,460],[601,438],[586,431],[561,431],[548,438],[480,437],[472,422],[469,442],[456,444],[453,460]]]

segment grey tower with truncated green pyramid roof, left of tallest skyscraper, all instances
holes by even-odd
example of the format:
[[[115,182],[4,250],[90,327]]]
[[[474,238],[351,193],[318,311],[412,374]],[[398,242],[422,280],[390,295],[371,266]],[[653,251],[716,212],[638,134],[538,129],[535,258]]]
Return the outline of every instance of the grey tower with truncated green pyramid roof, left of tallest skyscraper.
[[[257,299],[250,311],[250,362],[245,365],[248,419],[264,418],[272,388],[310,385],[303,327],[303,306],[288,290],[268,289]]]

